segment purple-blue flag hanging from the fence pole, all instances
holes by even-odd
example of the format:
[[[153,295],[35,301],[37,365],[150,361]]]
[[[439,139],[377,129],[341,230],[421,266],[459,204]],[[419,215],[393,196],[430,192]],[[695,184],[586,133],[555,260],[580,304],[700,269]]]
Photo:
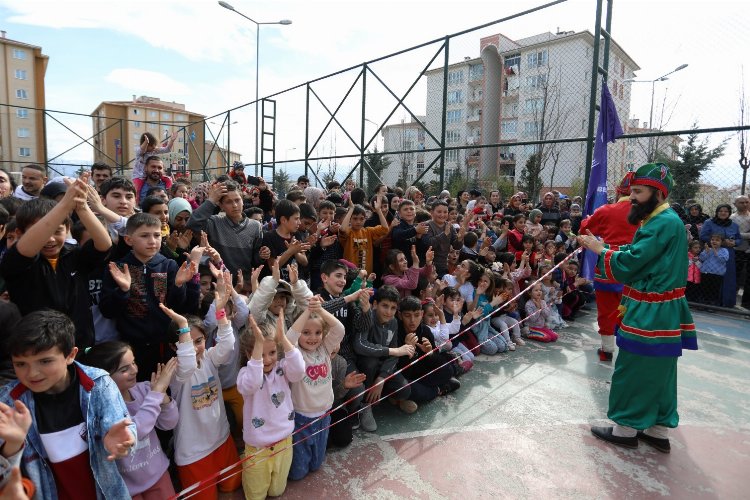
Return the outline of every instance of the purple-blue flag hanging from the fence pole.
[[[591,175],[586,188],[586,203],[583,215],[588,217],[594,210],[607,203],[607,143],[623,134],[620,118],[617,116],[615,102],[606,82],[602,82],[602,99],[599,109],[599,125],[594,142],[594,160],[591,162]],[[593,252],[584,252],[581,276],[593,279],[597,256]]]

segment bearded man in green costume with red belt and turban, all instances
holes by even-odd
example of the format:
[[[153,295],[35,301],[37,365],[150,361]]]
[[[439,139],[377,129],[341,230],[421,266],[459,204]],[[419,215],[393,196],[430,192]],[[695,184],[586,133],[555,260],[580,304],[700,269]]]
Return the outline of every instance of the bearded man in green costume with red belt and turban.
[[[670,451],[668,429],[679,422],[677,358],[682,349],[698,348],[685,299],[687,234],[666,202],[673,185],[664,164],[635,172],[628,221],[640,227],[630,245],[613,251],[591,232],[578,237],[599,255],[599,269],[624,284],[607,412],[615,425],[591,432],[627,448],[637,448],[640,439],[663,453]]]

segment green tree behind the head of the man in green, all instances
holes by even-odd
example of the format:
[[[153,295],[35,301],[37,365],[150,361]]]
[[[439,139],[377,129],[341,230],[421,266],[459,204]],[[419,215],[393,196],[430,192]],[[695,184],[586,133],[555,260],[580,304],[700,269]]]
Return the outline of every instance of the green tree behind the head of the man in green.
[[[693,124],[692,128],[696,130],[698,124]],[[700,187],[701,174],[724,154],[726,145],[727,139],[715,148],[710,148],[708,138],[701,141],[698,134],[693,132],[688,135],[684,145],[673,146],[676,160],[657,157],[658,161],[667,164],[674,177],[674,188],[669,195],[672,201],[683,204],[686,200],[695,198]]]

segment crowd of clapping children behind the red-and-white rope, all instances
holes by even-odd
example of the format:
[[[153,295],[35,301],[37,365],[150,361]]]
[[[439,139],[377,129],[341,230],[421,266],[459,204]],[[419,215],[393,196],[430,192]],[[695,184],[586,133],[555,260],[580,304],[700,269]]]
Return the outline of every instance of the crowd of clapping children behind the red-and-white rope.
[[[280,495],[377,430],[373,405],[414,413],[593,299],[580,209],[553,193],[368,198],[303,176],[277,199],[238,166],[165,186],[141,149],[140,189],[96,164],[50,199],[29,165],[29,199],[0,199],[0,465],[43,498]],[[701,281],[725,260],[712,240]]]

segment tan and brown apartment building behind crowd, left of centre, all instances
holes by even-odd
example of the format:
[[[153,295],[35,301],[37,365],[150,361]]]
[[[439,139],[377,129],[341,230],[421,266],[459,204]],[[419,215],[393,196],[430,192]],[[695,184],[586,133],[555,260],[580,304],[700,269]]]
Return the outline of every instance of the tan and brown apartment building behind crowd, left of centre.
[[[104,101],[91,114],[95,162],[122,168],[130,175],[145,132],[165,141],[176,131],[172,152],[162,155],[165,167],[174,173],[192,173],[195,179],[201,177],[206,151],[205,115],[186,110],[184,104],[135,95],[130,101]]]

